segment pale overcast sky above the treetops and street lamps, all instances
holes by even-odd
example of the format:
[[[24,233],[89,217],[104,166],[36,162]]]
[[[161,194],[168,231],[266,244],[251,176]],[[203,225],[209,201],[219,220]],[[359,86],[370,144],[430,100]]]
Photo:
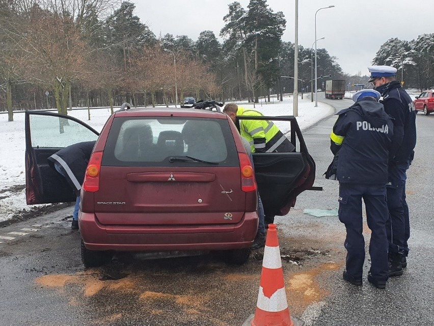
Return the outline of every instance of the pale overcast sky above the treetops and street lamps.
[[[223,17],[232,0],[133,0],[135,14],[158,37],[167,33],[187,35],[194,41],[210,30],[222,42]],[[247,9],[249,0],[238,0]],[[274,12],[282,11],[286,31],[282,40],[295,40],[295,0],[267,0]],[[368,75],[375,53],[390,38],[411,41],[421,34],[434,33],[430,1],[413,0],[299,0],[299,45],[325,48],[345,73]]]

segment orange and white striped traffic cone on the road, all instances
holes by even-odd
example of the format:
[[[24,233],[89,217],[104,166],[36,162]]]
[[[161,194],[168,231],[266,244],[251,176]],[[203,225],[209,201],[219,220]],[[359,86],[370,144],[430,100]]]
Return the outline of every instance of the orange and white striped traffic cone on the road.
[[[279,240],[275,224],[268,225],[258,302],[251,326],[293,326],[286,300]]]

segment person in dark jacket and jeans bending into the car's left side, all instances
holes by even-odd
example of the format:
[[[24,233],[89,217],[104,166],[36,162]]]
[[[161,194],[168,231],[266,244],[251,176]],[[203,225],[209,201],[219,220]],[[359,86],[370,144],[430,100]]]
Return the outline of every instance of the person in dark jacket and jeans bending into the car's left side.
[[[70,145],[48,157],[48,165],[59,172],[77,196],[72,214],[71,229],[78,229],[78,209],[80,207],[80,190],[85,179],[86,168],[92,154],[93,142],[82,142]]]

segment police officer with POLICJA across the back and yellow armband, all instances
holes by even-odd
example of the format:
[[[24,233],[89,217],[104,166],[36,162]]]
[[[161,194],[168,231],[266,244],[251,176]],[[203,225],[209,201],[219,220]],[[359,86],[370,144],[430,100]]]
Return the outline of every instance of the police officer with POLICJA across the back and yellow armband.
[[[386,221],[387,163],[393,136],[392,118],[378,103],[380,94],[361,90],[354,94],[354,105],[339,113],[331,133],[330,149],[335,155],[326,177],[339,181],[339,220],[345,224],[347,250],[343,279],[362,285],[365,240],[362,198],[371,229],[368,281],[385,288],[388,279],[388,241]]]

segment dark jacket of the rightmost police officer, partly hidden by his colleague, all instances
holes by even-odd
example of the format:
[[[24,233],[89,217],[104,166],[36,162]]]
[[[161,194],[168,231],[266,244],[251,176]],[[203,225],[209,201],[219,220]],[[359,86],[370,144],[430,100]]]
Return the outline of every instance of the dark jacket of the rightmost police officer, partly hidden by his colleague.
[[[395,119],[390,164],[413,160],[413,150],[416,146],[416,111],[411,97],[396,80],[377,87],[375,90],[383,96],[380,102],[383,103],[386,113]]]

